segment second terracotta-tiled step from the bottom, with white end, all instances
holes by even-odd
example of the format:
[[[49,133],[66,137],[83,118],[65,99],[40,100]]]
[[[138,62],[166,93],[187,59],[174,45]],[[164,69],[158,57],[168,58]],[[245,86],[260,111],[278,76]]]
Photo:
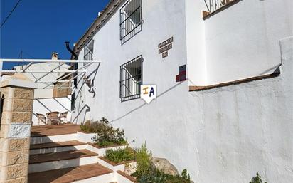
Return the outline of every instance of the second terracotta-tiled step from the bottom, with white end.
[[[97,163],[97,156],[97,153],[89,150],[30,155],[28,172],[44,172],[53,169],[79,167],[86,164]]]

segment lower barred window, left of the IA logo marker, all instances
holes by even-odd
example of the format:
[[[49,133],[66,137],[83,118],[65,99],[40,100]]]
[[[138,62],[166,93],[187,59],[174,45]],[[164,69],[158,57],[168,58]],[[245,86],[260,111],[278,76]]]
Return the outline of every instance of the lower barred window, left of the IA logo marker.
[[[138,56],[120,66],[120,98],[122,102],[140,98],[142,62],[142,56]]]

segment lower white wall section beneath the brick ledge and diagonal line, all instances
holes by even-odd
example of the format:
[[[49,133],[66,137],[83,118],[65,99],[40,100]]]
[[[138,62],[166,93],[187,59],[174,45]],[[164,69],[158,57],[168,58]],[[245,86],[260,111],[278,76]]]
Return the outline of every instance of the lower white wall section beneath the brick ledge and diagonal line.
[[[291,183],[292,43],[277,78],[191,93],[182,83],[159,91],[150,105],[104,104],[95,116],[122,127],[135,147],[146,141],[154,156],[168,158],[179,171],[187,168],[194,182],[247,183],[260,172],[267,182]]]

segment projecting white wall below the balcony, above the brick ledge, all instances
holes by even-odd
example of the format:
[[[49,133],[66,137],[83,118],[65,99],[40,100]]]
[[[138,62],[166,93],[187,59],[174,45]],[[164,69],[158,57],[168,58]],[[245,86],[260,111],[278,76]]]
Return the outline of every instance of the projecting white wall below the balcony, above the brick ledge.
[[[206,85],[273,73],[279,39],[293,35],[292,9],[292,0],[245,0],[206,19]]]

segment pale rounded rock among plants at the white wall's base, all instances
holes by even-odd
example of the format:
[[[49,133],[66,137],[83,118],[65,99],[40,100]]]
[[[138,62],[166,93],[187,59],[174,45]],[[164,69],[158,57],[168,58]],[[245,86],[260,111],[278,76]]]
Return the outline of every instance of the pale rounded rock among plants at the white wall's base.
[[[159,169],[160,171],[164,172],[165,174],[171,174],[171,175],[179,175],[178,170],[176,167],[174,167],[171,162],[164,158],[159,157],[153,157],[151,159],[151,162],[154,164],[154,166]]]

